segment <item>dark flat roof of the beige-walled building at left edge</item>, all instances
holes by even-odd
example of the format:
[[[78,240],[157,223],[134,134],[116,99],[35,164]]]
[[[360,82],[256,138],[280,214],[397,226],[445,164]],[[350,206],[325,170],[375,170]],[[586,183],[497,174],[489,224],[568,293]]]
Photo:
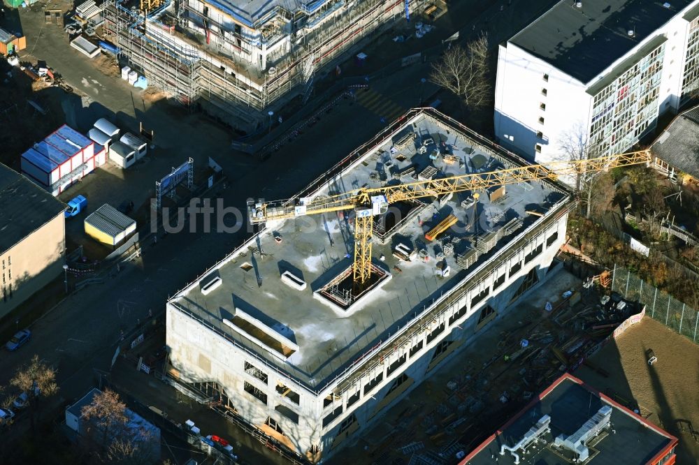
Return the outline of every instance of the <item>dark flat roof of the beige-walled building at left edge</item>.
[[[66,205],[0,164],[0,253],[62,214]]]

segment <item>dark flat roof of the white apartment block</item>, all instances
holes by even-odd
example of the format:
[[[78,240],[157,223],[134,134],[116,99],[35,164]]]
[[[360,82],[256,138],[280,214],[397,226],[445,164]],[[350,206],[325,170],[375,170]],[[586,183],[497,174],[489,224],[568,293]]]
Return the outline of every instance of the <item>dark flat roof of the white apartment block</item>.
[[[693,0],[561,0],[510,39],[580,82],[590,82],[614,61],[684,10]],[[628,36],[634,30],[633,37]]]

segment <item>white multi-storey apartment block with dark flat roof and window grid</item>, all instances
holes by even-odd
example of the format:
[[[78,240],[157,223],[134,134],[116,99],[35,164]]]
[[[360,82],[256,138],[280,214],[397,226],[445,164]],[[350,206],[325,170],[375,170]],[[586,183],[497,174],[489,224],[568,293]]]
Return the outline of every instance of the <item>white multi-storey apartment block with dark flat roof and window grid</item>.
[[[698,56],[697,0],[562,0],[499,47],[496,138],[542,163],[626,152],[693,96]]]

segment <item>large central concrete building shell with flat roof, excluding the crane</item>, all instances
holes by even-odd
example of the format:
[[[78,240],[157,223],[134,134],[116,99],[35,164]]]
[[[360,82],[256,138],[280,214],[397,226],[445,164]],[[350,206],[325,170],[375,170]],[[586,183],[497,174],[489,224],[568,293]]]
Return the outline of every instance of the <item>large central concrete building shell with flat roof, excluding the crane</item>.
[[[267,221],[168,301],[169,374],[299,455],[336,454],[545,279],[572,198],[558,182],[523,180],[391,203],[373,220],[360,288],[361,211],[304,207],[523,164],[435,110],[412,110],[307,189],[301,216]]]

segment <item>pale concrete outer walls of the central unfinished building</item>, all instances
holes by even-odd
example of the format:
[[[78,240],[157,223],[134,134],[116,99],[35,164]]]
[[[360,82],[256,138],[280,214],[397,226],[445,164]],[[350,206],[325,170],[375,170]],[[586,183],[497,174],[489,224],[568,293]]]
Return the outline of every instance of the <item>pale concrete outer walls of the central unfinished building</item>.
[[[396,404],[440,364],[473,340],[474,333],[483,331],[491,320],[505,315],[510,309],[512,296],[530,270],[536,270],[540,281],[543,279],[565,240],[567,218],[567,214],[561,215],[520,249],[510,251],[498,266],[492,267],[487,274],[478,276],[477,286],[473,285],[473,279],[468,279],[464,286],[456,288],[453,293],[463,293],[459,300],[435,318],[426,330],[416,332],[417,335],[411,337],[408,344],[403,344],[385,360],[382,358],[379,364],[366,369],[363,376],[338,397],[332,397],[332,393],[337,392],[343,379],[332,383],[319,394],[312,394],[168,304],[166,344],[171,350],[171,362],[180,371],[183,381],[215,381],[224,386],[236,410],[247,422],[261,426],[268,417],[273,418],[284,431],[288,440],[284,442],[293,445],[297,452],[305,454],[312,445],[318,445],[323,450],[324,457],[333,455],[352,443],[356,431],[371,425],[380,418],[380,412]],[[540,245],[541,253],[524,263],[524,256]],[[522,263],[521,269],[512,272],[512,266],[517,263]],[[494,281],[503,274],[504,281],[493,289]],[[473,298],[485,288],[490,290],[489,296],[473,303]],[[486,305],[496,313],[479,324],[481,311]],[[444,330],[438,336],[430,337],[435,328],[442,324]],[[431,340],[427,341],[428,338]],[[443,341],[452,342],[447,345]],[[420,344],[421,348],[417,349]],[[411,350],[414,350],[412,355]],[[441,353],[435,357],[436,350]],[[405,357],[405,362],[397,364],[398,368],[394,362],[401,357]],[[267,382],[264,383],[245,371],[245,362],[264,372]],[[391,366],[394,368],[391,369]],[[365,370],[364,367],[361,369]],[[406,378],[403,378],[403,374]],[[367,388],[378,376],[382,380]],[[398,384],[397,380],[403,382],[396,386],[394,383]],[[266,404],[246,392],[245,383],[264,392],[267,395]],[[278,383],[286,385],[299,395],[298,404],[275,389]],[[355,397],[356,392],[359,392],[358,397]],[[325,405],[328,397],[331,400]],[[298,423],[275,410],[276,406],[284,406],[298,413]],[[332,418],[333,412],[341,413]],[[340,429],[343,429],[341,433]]]

